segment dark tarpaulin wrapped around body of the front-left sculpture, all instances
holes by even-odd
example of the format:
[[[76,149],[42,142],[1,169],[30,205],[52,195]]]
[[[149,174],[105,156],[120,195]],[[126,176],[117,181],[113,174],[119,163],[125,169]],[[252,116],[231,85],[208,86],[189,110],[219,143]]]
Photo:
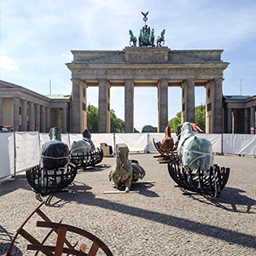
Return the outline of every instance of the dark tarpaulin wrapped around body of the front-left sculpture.
[[[45,169],[53,170],[55,168],[67,165],[69,149],[66,143],[60,141],[49,141],[42,147],[41,160]]]

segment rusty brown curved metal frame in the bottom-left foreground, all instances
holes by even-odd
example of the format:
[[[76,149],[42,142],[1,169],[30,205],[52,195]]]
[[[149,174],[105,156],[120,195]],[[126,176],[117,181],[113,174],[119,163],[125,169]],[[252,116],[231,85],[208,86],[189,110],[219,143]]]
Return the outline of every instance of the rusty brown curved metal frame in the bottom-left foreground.
[[[104,253],[107,256],[113,256],[113,253],[109,250],[107,245],[101,241],[98,237],[92,235],[90,232],[86,230],[79,229],[77,227],[52,222],[49,217],[40,209],[44,205],[42,202],[30,215],[26,218],[25,222],[21,224],[20,228],[17,230],[14,239],[12,240],[7,253],[4,256],[12,256],[13,247],[15,245],[16,238],[20,235],[29,242],[27,245],[27,251],[35,251],[34,255],[38,255],[38,253],[43,253],[47,256],[61,256],[62,253],[66,253],[67,255],[78,255],[78,256],[95,256],[97,253]],[[29,232],[27,229],[25,230],[26,223],[32,218],[32,216],[39,215],[43,221],[37,222],[38,228],[49,228],[49,232],[44,239],[40,241],[39,238],[35,237],[34,229],[32,232]],[[44,232],[44,230],[42,230]],[[67,234],[71,234],[71,236],[79,236],[83,237],[83,243],[79,243],[79,241],[75,242],[73,245],[71,242],[67,240]],[[56,235],[56,236],[55,236]],[[55,236],[55,239],[54,239]],[[55,241],[54,244],[46,245],[46,241],[50,240]],[[88,244],[84,243],[84,240],[88,240]],[[86,247],[90,245],[88,249],[88,253],[86,253]],[[78,247],[79,248],[76,248]],[[40,254],[41,255],[41,254]],[[102,255],[102,254],[101,254]]]

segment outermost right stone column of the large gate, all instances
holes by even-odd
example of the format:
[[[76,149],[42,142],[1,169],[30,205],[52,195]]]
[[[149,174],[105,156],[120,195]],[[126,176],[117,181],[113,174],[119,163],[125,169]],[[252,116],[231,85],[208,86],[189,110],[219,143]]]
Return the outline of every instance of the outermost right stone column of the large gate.
[[[222,81],[223,79],[214,79],[213,91],[214,102],[212,102],[212,127],[213,133],[223,133],[223,94],[222,94]]]

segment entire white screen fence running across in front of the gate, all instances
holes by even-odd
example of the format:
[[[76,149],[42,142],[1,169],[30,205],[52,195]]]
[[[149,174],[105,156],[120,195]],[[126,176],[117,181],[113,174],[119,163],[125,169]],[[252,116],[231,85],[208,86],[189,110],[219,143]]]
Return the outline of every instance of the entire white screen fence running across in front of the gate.
[[[256,135],[249,134],[197,134],[212,143],[212,151],[217,154],[256,155]],[[107,143],[115,150],[118,143],[127,144],[130,152],[154,152],[153,138],[159,142],[164,133],[93,133],[91,139],[96,147]],[[176,134],[172,134],[177,140]],[[70,147],[75,140],[82,139],[82,134],[62,134],[61,140]],[[48,133],[34,132],[0,132],[0,178],[15,175],[40,160],[41,146],[49,141]]]

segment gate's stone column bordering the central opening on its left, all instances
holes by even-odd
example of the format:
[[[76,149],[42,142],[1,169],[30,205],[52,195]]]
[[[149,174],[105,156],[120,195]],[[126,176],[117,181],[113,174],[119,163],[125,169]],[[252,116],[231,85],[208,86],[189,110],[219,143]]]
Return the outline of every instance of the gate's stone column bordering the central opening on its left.
[[[125,80],[125,132],[134,131],[134,84]]]

